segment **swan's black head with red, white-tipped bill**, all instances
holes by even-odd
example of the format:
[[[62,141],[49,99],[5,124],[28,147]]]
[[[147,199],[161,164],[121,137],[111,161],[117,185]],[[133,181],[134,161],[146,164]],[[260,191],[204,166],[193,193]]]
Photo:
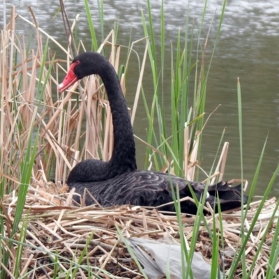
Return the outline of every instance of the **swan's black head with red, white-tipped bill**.
[[[59,84],[58,90],[65,91],[77,80],[81,80],[88,75],[100,75],[104,66],[109,63],[104,56],[98,52],[84,52],[77,55],[70,65],[70,69],[63,82]]]

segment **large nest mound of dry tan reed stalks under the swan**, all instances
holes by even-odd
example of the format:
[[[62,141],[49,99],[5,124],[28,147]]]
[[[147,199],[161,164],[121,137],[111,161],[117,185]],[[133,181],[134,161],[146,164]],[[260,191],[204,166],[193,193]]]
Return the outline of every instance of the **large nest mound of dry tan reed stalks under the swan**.
[[[172,236],[177,242],[180,241],[176,215],[166,215],[156,209],[144,209],[140,206],[106,209],[97,205],[71,207],[68,202],[71,193],[66,193],[66,190],[48,183],[30,188],[27,194],[20,223],[21,229],[24,223],[27,224],[20,274],[28,271],[28,278],[54,278],[55,273],[59,273],[60,278],[66,278],[69,270],[75,272],[74,275],[71,273],[72,278],[94,278],[82,265],[91,266],[96,278],[111,278],[109,274],[114,275],[114,278],[143,278],[120,235],[126,239],[136,237],[153,240]],[[15,198],[8,196],[2,204],[9,216],[6,218],[5,227],[8,237],[9,223],[13,222],[15,216],[15,202]],[[241,209],[222,213],[224,243],[220,244],[219,248],[219,266],[225,274],[229,272],[232,259],[241,247],[241,224],[244,223],[244,230],[247,232],[259,202],[250,204],[245,220],[241,218]],[[271,223],[269,220],[275,206],[275,198],[266,200],[246,244],[247,266],[252,264],[257,255],[252,271],[252,276],[257,278],[265,277],[268,266],[276,226],[276,220]],[[186,243],[190,244],[195,233],[195,216],[182,214],[181,219]],[[217,214],[215,220],[218,232],[219,219]],[[203,222],[200,224],[195,250],[201,252],[204,260],[210,264],[213,247],[208,227],[213,230],[213,216],[205,216],[205,220],[207,228]],[[17,239],[20,239],[20,233]],[[261,241],[264,243],[259,246]],[[257,253],[259,247],[261,250]],[[8,264],[10,271],[14,268],[13,261],[17,249],[17,243],[14,243]],[[77,269],[73,268],[73,263],[78,264]],[[241,263],[236,268],[234,278],[242,278]]]

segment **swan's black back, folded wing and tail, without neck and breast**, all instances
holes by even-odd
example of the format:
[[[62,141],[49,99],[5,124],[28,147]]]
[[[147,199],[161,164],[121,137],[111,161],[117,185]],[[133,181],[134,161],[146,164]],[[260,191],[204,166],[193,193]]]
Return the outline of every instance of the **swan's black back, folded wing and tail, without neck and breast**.
[[[75,187],[75,191],[80,195],[84,195],[84,189],[86,188],[102,206],[123,204],[159,206],[173,201],[171,185],[178,186],[180,198],[192,197],[189,186],[192,187],[198,200],[202,197],[204,191],[203,183],[187,182],[177,176],[146,171],[126,172],[105,181],[77,182],[69,186],[70,188]],[[208,191],[209,197],[207,197],[206,201],[216,210],[218,209],[216,206],[218,201],[217,193],[222,211],[241,206],[241,186],[232,188],[228,183],[221,182],[214,186],[209,186]],[[86,204],[93,203],[90,195],[86,195]],[[246,196],[244,196],[245,203]],[[174,211],[174,205],[170,204],[160,209]],[[181,202],[181,211],[195,214],[197,206],[188,199],[185,202]]]

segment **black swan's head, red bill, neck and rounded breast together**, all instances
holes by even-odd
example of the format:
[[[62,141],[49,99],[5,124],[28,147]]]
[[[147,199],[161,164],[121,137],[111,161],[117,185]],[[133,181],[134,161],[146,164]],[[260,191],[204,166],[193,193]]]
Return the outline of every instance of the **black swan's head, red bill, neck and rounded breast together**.
[[[59,85],[59,91],[93,74],[100,75],[107,91],[114,127],[114,150],[109,162],[84,160],[77,164],[68,176],[67,184],[70,188],[73,188],[75,182],[104,181],[137,169],[133,128],[120,82],[112,64],[97,52],[84,52],[78,55],[62,84]],[[79,193],[78,189],[76,191]]]

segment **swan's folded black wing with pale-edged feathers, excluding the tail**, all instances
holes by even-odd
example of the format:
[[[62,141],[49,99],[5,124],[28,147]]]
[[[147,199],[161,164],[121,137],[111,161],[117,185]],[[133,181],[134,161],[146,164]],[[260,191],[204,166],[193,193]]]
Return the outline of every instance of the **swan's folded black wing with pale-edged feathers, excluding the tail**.
[[[126,172],[105,181],[77,182],[69,186],[70,188],[75,187],[75,192],[80,195],[84,194],[84,188],[86,188],[103,206],[122,204],[158,206],[172,202],[171,185],[179,187],[180,197],[191,196],[188,186],[191,185],[198,199],[204,186],[202,183],[187,183],[185,179],[177,176],[146,171]],[[86,195],[86,204],[92,203],[93,199],[91,199],[90,195]],[[185,202],[185,205],[187,204],[188,206],[188,203],[190,203],[189,206],[191,208],[194,207],[194,211],[197,211],[197,207],[193,202]],[[174,211],[174,206],[172,204],[163,210]],[[190,210],[187,211],[190,213]]]

